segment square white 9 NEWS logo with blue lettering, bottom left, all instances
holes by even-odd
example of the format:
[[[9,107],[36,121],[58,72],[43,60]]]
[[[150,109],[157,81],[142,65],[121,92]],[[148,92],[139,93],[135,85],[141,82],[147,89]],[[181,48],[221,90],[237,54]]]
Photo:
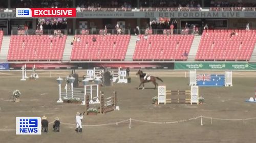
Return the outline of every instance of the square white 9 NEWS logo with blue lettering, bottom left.
[[[16,117],[16,134],[41,134],[41,118]]]

